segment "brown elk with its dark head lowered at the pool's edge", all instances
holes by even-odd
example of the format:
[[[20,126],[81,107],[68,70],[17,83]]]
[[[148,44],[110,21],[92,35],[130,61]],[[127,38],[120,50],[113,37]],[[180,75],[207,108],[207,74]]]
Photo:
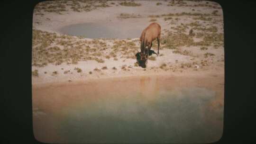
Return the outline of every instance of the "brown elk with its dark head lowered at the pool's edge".
[[[161,27],[157,23],[151,23],[148,27],[146,27],[140,36],[140,61],[147,63],[147,58],[152,46],[152,42],[157,39],[158,49],[157,55],[159,54],[159,46],[160,46],[160,34],[161,34]],[[147,49],[146,49],[147,46]],[[136,55],[138,57],[138,55]],[[146,67],[146,65],[145,65]]]

